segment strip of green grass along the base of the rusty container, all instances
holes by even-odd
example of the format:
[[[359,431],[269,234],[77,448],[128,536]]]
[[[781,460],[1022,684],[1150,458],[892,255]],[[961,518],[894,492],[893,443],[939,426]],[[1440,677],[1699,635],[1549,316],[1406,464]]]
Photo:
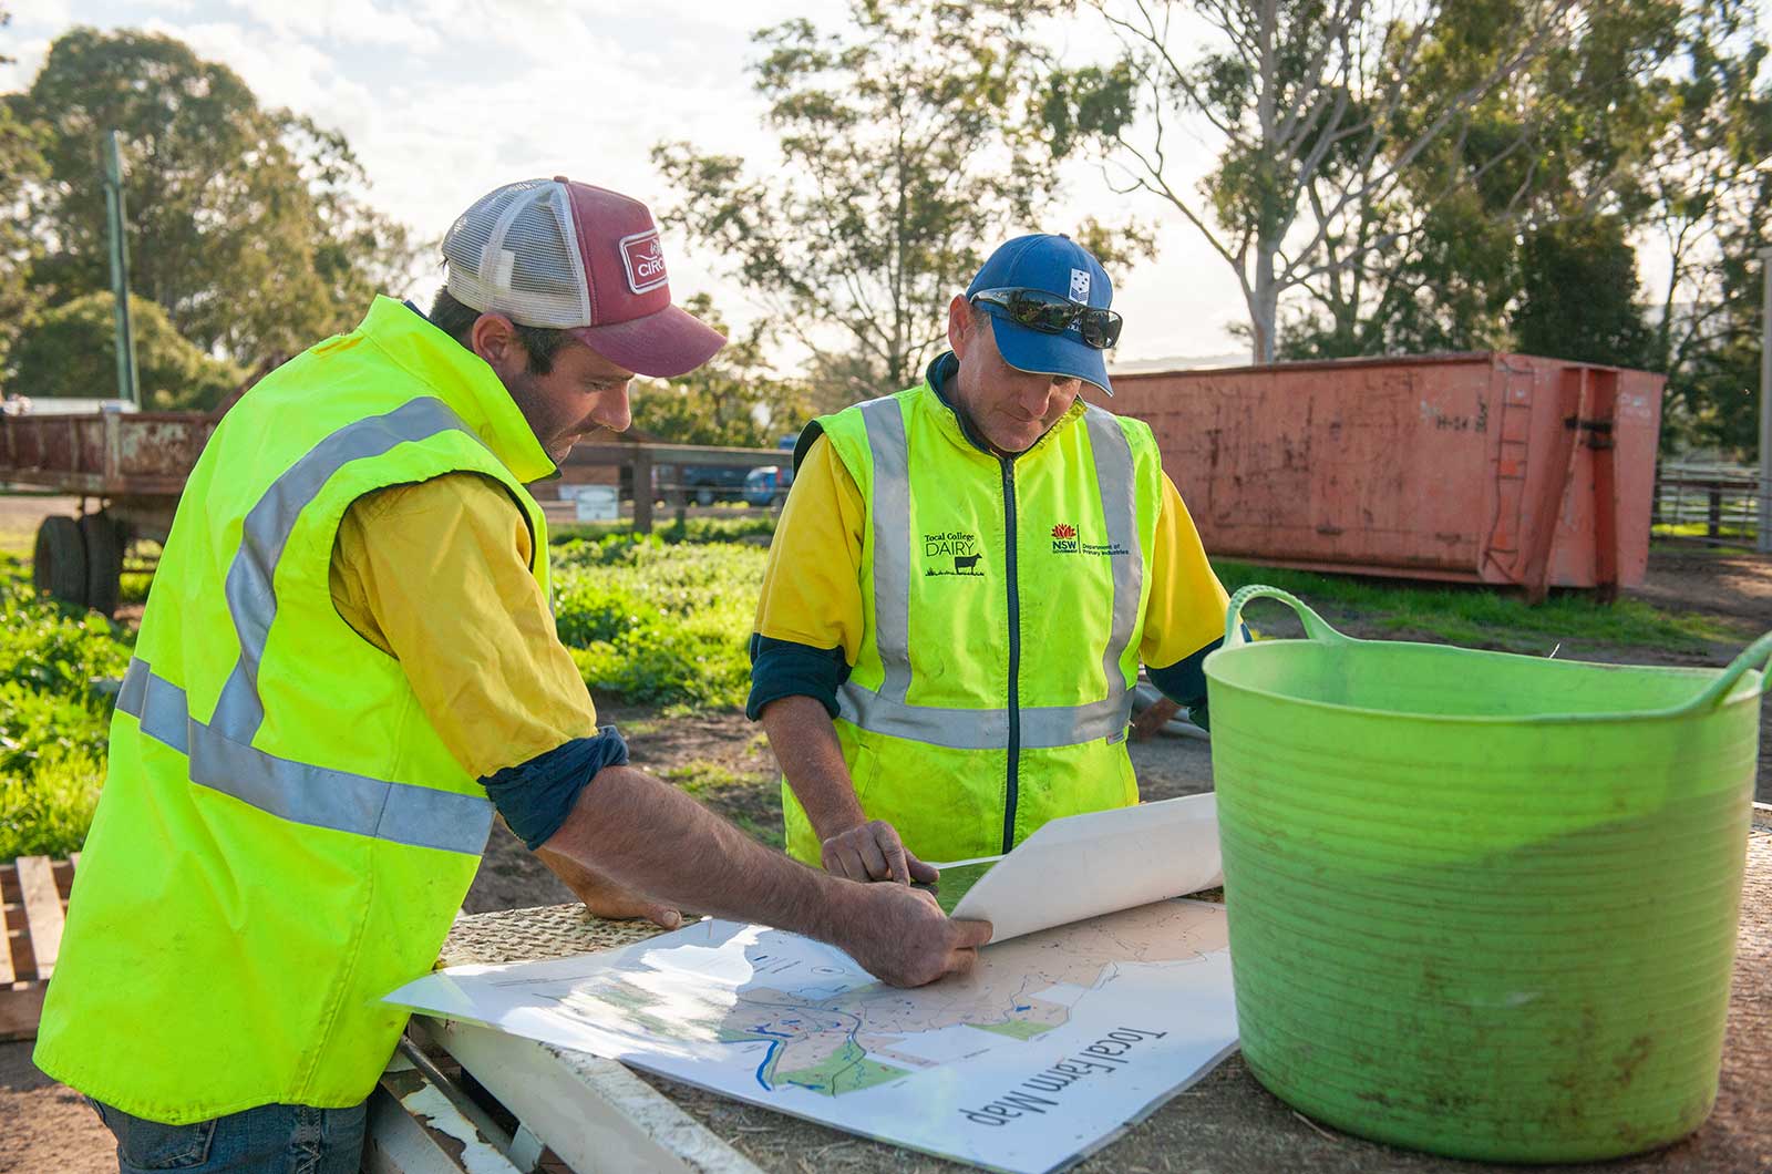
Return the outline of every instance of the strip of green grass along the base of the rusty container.
[[[1666,612],[1639,599],[1604,605],[1584,592],[1552,594],[1533,607],[1517,592],[1488,587],[1396,583],[1244,562],[1214,562],[1214,567],[1232,592],[1267,583],[1317,610],[1357,617],[1368,630],[1421,633],[1449,644],[1549,653],[1559,642],[1584,642],[1705,653],[1710,642],[1745,635],[1710,615]],[[1246,619],[1258,628],[1281,612],[1281,605],[1256,603]]]

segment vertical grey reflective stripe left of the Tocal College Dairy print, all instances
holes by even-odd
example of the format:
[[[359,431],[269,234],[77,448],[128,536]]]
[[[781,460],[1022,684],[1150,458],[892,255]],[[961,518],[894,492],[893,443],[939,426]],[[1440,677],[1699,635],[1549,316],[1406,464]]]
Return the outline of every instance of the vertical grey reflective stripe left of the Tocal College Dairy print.
[[[874,456],[874,647],[886,679],[881,695],[911,688],[911,449],[895,395],[861,404]]]

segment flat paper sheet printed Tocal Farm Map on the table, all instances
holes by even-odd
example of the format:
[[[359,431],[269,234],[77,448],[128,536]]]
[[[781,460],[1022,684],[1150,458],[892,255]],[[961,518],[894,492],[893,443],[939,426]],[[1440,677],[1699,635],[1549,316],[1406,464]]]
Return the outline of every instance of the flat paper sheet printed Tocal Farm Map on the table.
[[[388,1002],[1038,1174],[1235,1048],[1226,942],[1221,906],[1161,901],[994,945],[971,974],[905,991],[835,947],[703,920],[606,954],[455,967]]]

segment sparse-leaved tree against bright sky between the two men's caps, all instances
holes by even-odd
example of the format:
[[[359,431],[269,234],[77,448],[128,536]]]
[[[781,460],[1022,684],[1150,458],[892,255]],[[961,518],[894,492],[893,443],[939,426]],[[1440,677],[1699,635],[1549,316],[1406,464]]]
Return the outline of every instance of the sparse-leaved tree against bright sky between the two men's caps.
[[[764,28],[757,89],[781,167],[757,177],[732,154],[654,149],[682,197],[668,218],[725,255],[815,365],[849,367],[849,399],[913,383],[980,248],[1049,207],[1028,35],[1049,7],[852,0],[840,34]]]

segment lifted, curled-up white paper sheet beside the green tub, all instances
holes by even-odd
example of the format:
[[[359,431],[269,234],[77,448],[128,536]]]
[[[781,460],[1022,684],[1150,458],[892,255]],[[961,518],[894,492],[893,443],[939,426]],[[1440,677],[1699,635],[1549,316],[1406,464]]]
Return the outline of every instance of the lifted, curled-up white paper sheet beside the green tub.
[[[989,920],[991,940],[1006,942],[1223,883],[1217,796],[1187,794],[1053,819],[978,878],[953,917]]]

